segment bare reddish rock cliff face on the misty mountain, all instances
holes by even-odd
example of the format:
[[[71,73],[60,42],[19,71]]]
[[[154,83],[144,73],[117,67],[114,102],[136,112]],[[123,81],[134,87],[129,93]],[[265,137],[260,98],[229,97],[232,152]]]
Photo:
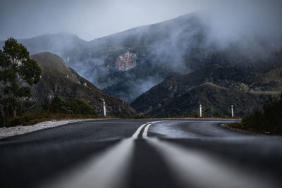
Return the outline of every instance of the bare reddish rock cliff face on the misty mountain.
[[[126,52],[125,54],[116,58],[116,70],[126,71],[136,66],[138,54],[133,52]]]

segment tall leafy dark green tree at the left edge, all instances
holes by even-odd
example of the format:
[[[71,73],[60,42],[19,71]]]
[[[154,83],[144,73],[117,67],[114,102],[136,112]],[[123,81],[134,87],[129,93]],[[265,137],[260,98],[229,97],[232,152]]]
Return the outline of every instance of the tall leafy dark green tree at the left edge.
[[[39,82],[41,69],[16,39],[6,40],[0,50],[1,108],[11,108],[16,116],[17,106],[31,96],[30,86]]]

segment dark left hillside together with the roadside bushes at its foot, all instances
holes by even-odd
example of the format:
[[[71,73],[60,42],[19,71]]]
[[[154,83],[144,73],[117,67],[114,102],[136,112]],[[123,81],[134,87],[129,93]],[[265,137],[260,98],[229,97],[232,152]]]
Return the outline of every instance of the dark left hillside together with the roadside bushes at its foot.
[[[3,106],[4,100],[1,100],[0,126],[32,125],[43,120],[62,118],[104,117],[103,102],[106,103],[109,118],[129,118],[135,115],[129,104],[101,92],[68,68],[59,56],[47,52],[35,54],[31,58],[41,69],[39,82],[32,86],[28,97],[20,100],[13,108],[16,115],[9,115],[10,106]],[[3,89],[2,92],[5,94]],[[6,109],[9,110],[7,114],[4,113]]]

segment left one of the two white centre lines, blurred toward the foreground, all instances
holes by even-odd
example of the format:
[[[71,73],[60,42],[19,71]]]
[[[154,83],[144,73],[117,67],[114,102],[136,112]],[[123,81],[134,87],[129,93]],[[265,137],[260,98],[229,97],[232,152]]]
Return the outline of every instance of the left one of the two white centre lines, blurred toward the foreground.
[[[154,122],[155,123],[155,122]],[[118,144],[111,146],[106,151],[94,155],[87,161],[71,171],[65,172],[51,183],[47,182],[42,187],[58,188],[113,188],[125,187],[128,179],[130,162],[133,158],[134,139],[137,139],[143,127],[140,125],[132,137],[123,139]]]

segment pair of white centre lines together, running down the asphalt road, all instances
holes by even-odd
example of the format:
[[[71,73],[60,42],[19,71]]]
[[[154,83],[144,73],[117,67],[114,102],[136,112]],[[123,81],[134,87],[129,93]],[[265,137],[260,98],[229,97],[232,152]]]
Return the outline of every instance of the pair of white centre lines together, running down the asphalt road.
[[[186,149],[158,139],[149,139],[149,126],[161,121],[154,121],[140,125],[132,137],[123,139],[106,151],[94,155],[89,161],[65,173],[45,187],[85,187],[85,188],[122,188],[128,180],[130,165],[133,159],[134,140],[145,127],[142,138],[154,146],[161,156],[164,156],[168,168],[180,185],[192,187],[274,187],[270,182],[258,179],[257,176],[245,170],[235,168],[229,163],[219,161],[218,158],[206,153]],[[194,185],[194,186],[193,186]],[[184,186],[185,187],[185,186]]]

